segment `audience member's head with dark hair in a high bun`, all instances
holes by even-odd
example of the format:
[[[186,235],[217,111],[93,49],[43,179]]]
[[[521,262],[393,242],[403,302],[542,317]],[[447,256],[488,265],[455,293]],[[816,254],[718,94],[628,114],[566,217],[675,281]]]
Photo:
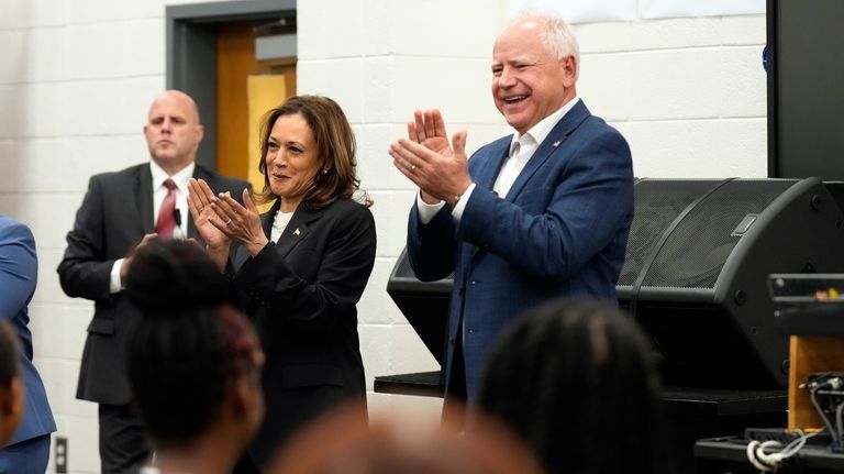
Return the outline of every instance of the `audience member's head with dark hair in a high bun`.
[[[240,454],[263,417],[264,354],[224,277],[196,243],[155,241],[134,256],[126,293],[143,315],[127,373],[156,450],[224,432]]]

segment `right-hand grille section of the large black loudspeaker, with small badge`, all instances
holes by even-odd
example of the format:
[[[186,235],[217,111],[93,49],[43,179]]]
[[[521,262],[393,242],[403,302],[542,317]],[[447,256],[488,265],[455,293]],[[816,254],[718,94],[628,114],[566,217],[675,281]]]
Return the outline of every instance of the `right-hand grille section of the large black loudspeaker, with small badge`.
[[[796,180],[733,180],[703,198],[659,250],[642,286],[714,288],[747,214],[760,214]]]

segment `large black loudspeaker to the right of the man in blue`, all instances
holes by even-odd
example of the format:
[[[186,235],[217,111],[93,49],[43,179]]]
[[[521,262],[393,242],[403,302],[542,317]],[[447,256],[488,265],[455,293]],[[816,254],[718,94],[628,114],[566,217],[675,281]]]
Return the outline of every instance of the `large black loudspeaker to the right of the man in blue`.
[[[662,355],[667,385],[787,386],[771,273],[844,271],[842,211],[818,178],[662,180],[635,187],[617,290]]]

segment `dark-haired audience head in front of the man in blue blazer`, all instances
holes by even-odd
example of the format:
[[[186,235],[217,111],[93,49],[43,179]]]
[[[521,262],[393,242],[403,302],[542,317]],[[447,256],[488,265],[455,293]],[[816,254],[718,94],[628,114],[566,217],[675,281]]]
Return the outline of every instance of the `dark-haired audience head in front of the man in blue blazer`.
[[[528,311],[497,342],[479,408],[519,434],[552,473],[664,471],[659,381],[629,317],[589,300]]]

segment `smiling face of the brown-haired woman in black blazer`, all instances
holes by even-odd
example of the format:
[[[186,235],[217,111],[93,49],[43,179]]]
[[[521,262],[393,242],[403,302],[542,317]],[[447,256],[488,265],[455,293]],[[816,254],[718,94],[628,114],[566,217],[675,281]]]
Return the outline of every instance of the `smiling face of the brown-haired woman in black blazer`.
[[[273,194],[281,198],[281,211],[292,212],[320,173],[319,147],[304,118],[280,115],[267,140],[267,180]]]

